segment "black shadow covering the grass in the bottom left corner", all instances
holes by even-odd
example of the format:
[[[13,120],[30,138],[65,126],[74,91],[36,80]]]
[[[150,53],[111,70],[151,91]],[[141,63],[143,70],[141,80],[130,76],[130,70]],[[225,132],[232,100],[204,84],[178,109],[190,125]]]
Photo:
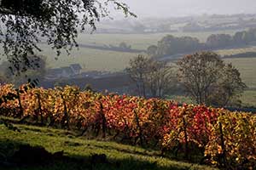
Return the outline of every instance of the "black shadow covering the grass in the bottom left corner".
[[[109,149],[109,148],[108,148]],[[124,151],[124,150],[121,150]],[[156,162],[133,158],[113,160],[106,155],[63,155],[63,151],[49,153],[43,147],[11,140],[0,141],[0,169],[6,170],[84,170],[84,169],[184,169],[159,167]]]

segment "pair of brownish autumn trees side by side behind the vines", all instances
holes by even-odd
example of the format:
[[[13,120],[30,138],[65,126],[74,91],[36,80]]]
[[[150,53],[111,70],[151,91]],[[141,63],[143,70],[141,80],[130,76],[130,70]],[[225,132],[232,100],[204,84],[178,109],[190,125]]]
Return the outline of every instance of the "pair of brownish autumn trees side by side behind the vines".
[[[239,97],[247,88],[240,72],[213,52],[184,56],[177,68],[164,61],[138,55],[126,69],[143,97],[164,98],[177,84],[200,105],[241,105]]]

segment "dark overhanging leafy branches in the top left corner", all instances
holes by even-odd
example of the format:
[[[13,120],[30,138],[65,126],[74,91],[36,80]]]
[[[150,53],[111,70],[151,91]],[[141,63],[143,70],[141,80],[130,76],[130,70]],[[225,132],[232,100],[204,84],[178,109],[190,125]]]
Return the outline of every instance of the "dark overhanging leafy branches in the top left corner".
[[[110,4],[112,3],[112,4]],[[24,71],[20,63],[27,56],[41,51],[38,42],[46,42],[61,54],[78,47],[76,38],[79,30],[90,26],[96,29],[96,22],[109,15],[108,7],[122,10],[125,15],[131,13],[125,3],[118,0],[2,0],[0,1],[0,42],[4,54],[11,63],[14,72]],[[26,68],[31,65],[26,62]]]

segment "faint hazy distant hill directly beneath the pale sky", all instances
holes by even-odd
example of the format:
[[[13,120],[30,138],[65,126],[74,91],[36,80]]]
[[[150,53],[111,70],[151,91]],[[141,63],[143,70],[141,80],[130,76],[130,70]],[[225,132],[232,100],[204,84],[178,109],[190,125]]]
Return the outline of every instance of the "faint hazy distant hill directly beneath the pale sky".
[[[256,26],[256,14],[202,14],[199,16],[102,20],[98,33],[158,33],[240,30]]]

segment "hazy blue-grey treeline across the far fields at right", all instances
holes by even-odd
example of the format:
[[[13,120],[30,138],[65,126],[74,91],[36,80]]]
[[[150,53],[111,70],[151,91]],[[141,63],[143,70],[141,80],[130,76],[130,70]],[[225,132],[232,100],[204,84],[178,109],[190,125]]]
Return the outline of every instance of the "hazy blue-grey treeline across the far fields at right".
[[[207,42],[200,42],[196,37],[174,37],[167,35],[157,45],[149,46],[147,53],[151,56],[166,56],[200,50],[212,50],[233,46],[247,45],[256,42],[256,28],[238,31],[234,36],[229,34],[212,34]]]

